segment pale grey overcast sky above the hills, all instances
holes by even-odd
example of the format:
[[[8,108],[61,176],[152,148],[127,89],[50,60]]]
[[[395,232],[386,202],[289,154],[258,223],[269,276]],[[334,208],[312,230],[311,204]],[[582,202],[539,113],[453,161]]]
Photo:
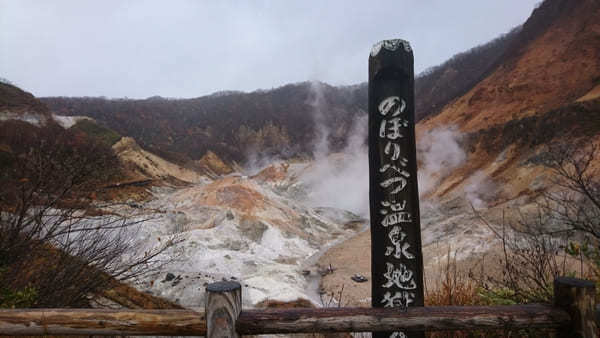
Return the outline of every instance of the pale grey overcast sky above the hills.
[[[523,23],[540,0],[0,0],[0,77],[36,96],[197,97],[367,79],[409,40],[420,72]]]

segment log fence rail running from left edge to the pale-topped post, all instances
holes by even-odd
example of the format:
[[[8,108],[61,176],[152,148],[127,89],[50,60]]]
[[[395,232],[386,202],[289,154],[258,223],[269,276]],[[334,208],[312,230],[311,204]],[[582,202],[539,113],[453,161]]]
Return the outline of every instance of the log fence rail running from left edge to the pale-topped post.
[[[0,310],[0,335],[204,336],[203,312],[189,310]]]

